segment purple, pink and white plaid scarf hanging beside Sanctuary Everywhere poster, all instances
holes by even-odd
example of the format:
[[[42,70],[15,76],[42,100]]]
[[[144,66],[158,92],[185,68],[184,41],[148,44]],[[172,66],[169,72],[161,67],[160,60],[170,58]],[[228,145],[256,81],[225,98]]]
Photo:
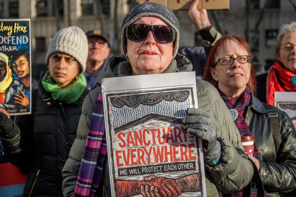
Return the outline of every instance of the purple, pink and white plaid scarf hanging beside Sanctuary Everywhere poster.
[[[107,158],[102,92],[94,107],[74,196],[94,196]]]

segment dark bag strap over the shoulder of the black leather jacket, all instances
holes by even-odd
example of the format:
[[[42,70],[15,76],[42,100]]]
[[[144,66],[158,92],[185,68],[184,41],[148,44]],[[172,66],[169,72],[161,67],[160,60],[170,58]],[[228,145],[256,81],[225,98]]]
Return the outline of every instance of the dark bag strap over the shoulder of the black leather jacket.
[[[274,138],[274,144],[276,146],[276,154],[279,151],[279,146],[281,145],[281,129],[279,127],[279,119],[278,119],[278,113],[271,105],[268,105],[266,103],[262,103],[267,111],[267,116],[269,119],[269,122],[271,124],[271,131],[272,136]]]

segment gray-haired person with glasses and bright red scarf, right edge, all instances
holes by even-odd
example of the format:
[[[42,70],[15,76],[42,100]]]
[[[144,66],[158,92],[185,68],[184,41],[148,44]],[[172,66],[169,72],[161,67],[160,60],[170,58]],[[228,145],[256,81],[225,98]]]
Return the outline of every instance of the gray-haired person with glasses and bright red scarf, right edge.
[[[274,105],[274,92],[296,92],[296,22],[282,25],[277,36],[278,61],[268,71],[266,101]]]

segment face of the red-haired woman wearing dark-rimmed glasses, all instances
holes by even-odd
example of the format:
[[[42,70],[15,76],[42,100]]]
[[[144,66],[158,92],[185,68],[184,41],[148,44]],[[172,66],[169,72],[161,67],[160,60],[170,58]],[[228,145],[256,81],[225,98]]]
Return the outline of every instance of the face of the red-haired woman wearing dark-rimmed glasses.
[[[237,58],[246,55],[250,54],[237,41],[227,40],[224,46],[221,45],[218,48],[215,61],[225,57]],[[213,79],[218,82],[218,87],[222,92],[236,92],[240,95],[250,80],[251,64],[250,62],[241,64],[235,59],[231,65],[216,64],[214,68],[210,68],[210,72]]]

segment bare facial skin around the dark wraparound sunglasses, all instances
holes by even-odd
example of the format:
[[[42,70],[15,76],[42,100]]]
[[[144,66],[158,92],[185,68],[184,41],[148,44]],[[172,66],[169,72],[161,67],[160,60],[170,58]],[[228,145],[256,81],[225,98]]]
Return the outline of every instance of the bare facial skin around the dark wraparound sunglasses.
[[[166,25],[157,17],[141,17],[133,24]],[[139,42],[127,39],[126,56],[131,62],[134,75],[162,73],[173,59],[173,43],[162,44],[157,42],[150,31],[144,40]]]

